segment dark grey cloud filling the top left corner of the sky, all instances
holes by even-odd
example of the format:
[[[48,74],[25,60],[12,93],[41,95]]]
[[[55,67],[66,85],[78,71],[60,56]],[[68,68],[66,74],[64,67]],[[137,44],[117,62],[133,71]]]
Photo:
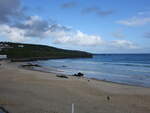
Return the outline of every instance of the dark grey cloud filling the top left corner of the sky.
[[[0,23],[8,23],[23,16],[20,0],[0,0]]]

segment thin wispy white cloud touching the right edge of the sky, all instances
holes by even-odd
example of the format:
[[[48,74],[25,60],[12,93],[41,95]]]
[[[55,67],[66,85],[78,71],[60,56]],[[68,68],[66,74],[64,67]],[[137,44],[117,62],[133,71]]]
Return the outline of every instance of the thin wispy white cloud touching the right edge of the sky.
[[[149,12],[139,12],[137,16],[131,17],[126,20],[117,21],[118,24],[126,26],[141,26],[150,24],[150,13]]]

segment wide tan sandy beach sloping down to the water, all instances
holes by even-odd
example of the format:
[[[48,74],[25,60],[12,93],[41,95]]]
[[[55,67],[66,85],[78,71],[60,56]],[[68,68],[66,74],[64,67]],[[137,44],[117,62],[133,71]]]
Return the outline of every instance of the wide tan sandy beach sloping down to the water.
[[[0,107],[10,113],[150,113],[150,88],[19,68],[0,61]]]

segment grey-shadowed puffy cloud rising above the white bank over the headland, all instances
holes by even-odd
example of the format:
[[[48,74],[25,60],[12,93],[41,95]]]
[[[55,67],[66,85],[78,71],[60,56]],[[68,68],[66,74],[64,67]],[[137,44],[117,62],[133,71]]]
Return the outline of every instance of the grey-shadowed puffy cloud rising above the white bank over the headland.
[[[48,32],[59,32],[59,31],[69,31],[68,28],[63,25],[49,23],[47,20],[43,20],[39,16],[31,16],[22,24],[16,25],[17,28],[26,31],[25,36],[45,38],[48,37]]]

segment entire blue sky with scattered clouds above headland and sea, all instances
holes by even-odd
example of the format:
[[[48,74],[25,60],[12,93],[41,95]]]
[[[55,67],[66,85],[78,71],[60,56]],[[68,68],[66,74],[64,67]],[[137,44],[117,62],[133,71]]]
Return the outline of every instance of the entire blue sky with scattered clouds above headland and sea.
[[[150,53],[150,0],[0,0],[0,41]]]

